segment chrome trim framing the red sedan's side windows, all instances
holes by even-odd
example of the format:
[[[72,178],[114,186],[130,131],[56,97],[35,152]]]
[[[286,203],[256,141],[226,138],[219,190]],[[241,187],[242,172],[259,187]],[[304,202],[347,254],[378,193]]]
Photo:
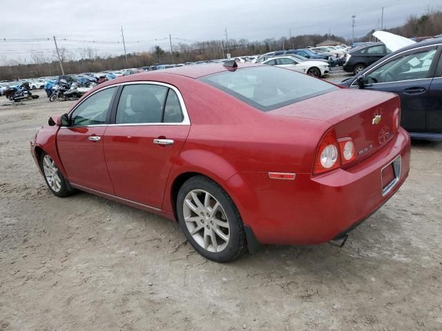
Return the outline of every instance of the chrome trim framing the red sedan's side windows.
[[[65,129],[65,128],[94,128],[94,127],[98,127],[98,126],[190,126],[191,125],[191,120],[189,118],[189,114],[187,112],[187,108],[186,108],[186,103],[184,103],[184,99],[181,95],[180,90],[178,90],[175,86],[169,84],[169,83],[161,83],[159,81],[127,81],[125,83],[116,83],[110,86],[105,86],[104,88],[100,88],[99,90],[94,91],[93,93],[89,94],[88,97],[84,100],[81,101],[81,103],[84,103],[84,101],[86,101],[87,99],[89,99],[91,96],[93,96],[93,94],[100,92],[102,90],[106,90],[107,88],[114,88],[114,87],[118,87],[118,86],[126,86],[126,85],[140,85],[140,84],[148,84],[148,85],[157,85],[157,86],[164,86],[166,88],[171,88],[178,97],[178,100],[180,100],[180,106],[181,106],[181,111],[183,114],[183,120],[181,122],[171,122],[171,123],[121,123],[121,124],[94,124],[94,125],[90,125],[90,126],[61,126],[61,129]],[[164,100],[164,102],[166,102]],[[77,106],[75,106],[75,108],[73,108],[73,110],[71,110],[68,114],[70,114],[71,112],[74,112],[80,105],[81,103],[79,103]]]

